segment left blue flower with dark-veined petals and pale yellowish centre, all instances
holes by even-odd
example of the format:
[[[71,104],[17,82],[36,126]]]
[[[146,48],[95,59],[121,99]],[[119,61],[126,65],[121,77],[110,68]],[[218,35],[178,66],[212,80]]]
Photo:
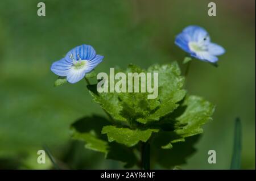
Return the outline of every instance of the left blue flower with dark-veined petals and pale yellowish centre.
[[[103,58],[96,54],[92,46],[80,45],[70,50],[61,60],[54,62],[51,71],[59,76],[67,77],[70,83],[76,83],[100,64]]]

